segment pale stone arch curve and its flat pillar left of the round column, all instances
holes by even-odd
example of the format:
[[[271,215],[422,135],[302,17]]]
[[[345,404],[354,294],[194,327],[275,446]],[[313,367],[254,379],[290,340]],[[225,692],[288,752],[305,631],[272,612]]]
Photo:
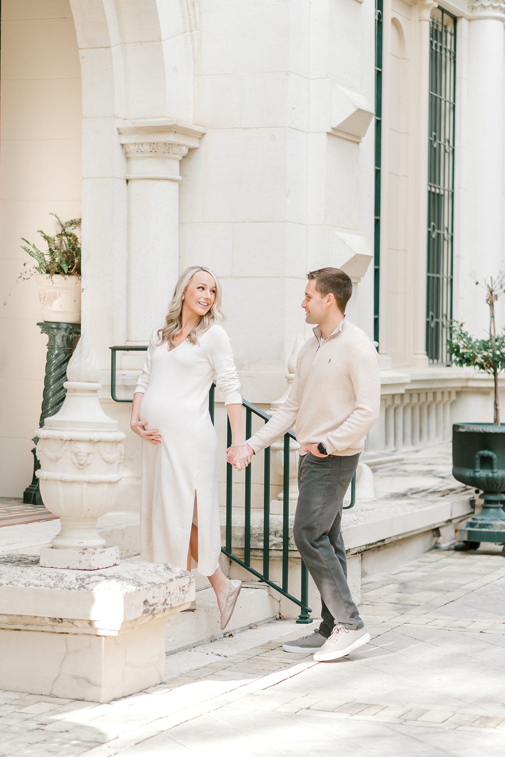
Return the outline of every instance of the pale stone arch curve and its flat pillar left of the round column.
[[[191,123],[195,3],[70,0],[82,74],[82,330],[102,366],[110,344],[125,342],[132,276],[132,213],[118,127]]]

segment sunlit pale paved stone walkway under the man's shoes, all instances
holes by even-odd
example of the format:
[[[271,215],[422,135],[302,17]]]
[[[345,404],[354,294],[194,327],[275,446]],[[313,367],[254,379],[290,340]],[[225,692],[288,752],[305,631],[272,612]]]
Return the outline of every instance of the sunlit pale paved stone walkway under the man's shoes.
[[[276,621],[169,656],[164,684],[107,705],[0,693],[0,755],[503,757],[505,559],[492,550],[427,553],[369,581],[372,641],[336,662],[283,653],[304,627]]]

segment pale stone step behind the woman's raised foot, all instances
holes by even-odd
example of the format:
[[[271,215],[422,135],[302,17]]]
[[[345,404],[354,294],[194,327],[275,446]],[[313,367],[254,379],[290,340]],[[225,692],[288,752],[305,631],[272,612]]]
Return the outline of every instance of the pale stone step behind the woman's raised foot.
[[[211,587],[197,590],[195,612],[181,612],[166,621],[166,653],[218,639],[225,633],[236,633],[252,623],[262,623],[278,615],[279,600],[271,597],[264,584],[243,584],[231,621],[221,630],[221,615]]]

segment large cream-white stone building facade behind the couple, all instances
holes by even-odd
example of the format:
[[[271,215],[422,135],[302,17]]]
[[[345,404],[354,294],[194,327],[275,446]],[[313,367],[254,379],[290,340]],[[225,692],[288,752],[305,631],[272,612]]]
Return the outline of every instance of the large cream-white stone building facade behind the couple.
[[[82,329],[126,430],[109,348],[147,341],[185,266],[222,279],[243,395],[268,407],[308,334],[306,273],[347,263],[383,368],[367,455],[491,420],[444,324],[482,332],[472,275],[503,266],[504,21],[489,0],[3,0],[2,302],[20,238],[82,215]],[[20,497],[45,369],[33,279],[1,315],[0,494]],[[119,357],[122,396],[138,366]]]

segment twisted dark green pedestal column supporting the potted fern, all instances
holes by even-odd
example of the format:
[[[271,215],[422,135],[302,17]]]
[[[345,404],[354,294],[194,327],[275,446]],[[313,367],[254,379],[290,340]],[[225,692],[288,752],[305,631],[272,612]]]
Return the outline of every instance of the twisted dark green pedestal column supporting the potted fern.
[[[64,382],[67,381],[67,364],[72,357],[77,337],[81,333],[80,323],[57,323],[42,321],[37,323],[42,334],[48,335],[48,357],[45,361],[44,394],[42,394],[42,410],[39,428],[49,416],[54,416],[60,410],[67,394]],[[35,449],[39,437],[33,438],[33,478],[32,483],[23,492],[23,502],[29,505],[43,505],[40,496],[39,479],[35,473],[40,468]]]

